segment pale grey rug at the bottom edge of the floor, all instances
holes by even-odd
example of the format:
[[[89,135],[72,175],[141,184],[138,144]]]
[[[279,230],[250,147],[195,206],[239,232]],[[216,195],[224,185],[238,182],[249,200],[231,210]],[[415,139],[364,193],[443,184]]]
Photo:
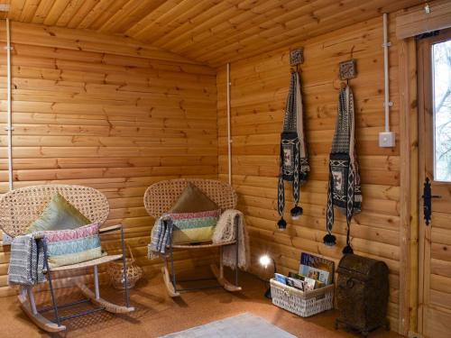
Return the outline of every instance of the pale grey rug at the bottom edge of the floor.
[[[296,338],[263,318],[245,313],[161,338]]]

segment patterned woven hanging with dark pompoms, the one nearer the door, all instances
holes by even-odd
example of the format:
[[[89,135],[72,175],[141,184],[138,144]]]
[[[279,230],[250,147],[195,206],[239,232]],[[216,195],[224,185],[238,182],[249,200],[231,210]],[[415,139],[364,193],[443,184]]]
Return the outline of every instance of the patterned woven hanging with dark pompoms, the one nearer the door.
[[[353,215],[361,210],[362,192],[354,148],[354,96],[349,86],[340,90],[336,132],[329,158],[327,235],[324,236],[324,243],[329,246],[336,244],[336,236],[332,234],[334,206],[346,215],[346,246],[343,253],[353,253],[349,239],[350,225]]]

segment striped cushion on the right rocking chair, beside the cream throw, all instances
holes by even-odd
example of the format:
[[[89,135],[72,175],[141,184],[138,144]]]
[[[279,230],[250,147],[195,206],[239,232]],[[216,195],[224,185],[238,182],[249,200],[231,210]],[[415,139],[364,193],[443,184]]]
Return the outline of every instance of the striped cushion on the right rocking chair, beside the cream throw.
[[[211,241],[221,210],[169,214],[173,222],[172,243]]]

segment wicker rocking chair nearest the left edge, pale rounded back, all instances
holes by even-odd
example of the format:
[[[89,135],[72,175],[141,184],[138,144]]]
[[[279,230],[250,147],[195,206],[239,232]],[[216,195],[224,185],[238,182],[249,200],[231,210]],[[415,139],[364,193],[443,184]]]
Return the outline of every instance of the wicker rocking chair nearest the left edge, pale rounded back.
[[[32,221],[34,221],[39,217],[39,215],[41,215],[42,210],[51,201],[51,197],[55,193],[60,193],[60,195],[64,196],[70,204],[76,206],[78,210],[83,215],[86,215],[87,218],[93,223],[98,222],[100,224],[103,224],[106,221],[106,217],[109,214],[108,201],[106,200],[106,196],[104,196],[96,189],[92,187],[68,185],[42,185],[22,187],[10,191],[0,197],[0,228],[12,237],[25,233],[27,227],[32,223]],[[115,314],[124,314],[132,312],[134,310],[134,308],[130,306],[129,292],[127,288],[125,288],[124,296],[125,306],[115,305],[100,297],[98,288],[98,265],[113,260],[123,260],[124,272],[126,272],[124,230],[122,228],[122,225],[118,224],[100,229],[99,234],[110,233],[114,231],[121,232],[122,254],[107,255],[95,260],[88,260],[78,264],[62,266],[53,269],[49,269],[47,262],[46,243],[43,242],[44,267],[47,268],[45,273],[51,291],[52,306],[38,310],[34,301],[32,288],[21,287],[18,296],[23,311],[32,319],[32,322],[34,324],[47,332],[60,332],[66,329],[66,326],[62,325],[61,322],[74,317],[78,317],[80,315],[88,315],[101,310],[106,310],[107,312]],[[87,297],[87,299],[58,306],[52,285],[51,275],[57,271],[87,268],[94,269],[94,292],[87,288],[85,284],[78,282],[76,283],[78,288]],[[125,285],[127,285],[126,279],[127,276],[126,273],[124,273]],[[76,315],[60,316],[58,313],[58,310],[61,307],[69,307],[89,301],[99,307]],[[54,322],[41,315],[46,311],[53,311],[55,316]]]

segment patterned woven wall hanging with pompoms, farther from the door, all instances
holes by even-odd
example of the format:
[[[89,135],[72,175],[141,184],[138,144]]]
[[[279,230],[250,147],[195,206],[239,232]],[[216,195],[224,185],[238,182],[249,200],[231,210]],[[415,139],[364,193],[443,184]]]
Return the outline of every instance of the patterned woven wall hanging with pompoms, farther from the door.
[[[280,229],[287,227],[283,219],[285,207],[285,187],[283,182],[289,182],[293,187],[294,207],[290,210],[293,219],[302,215],[299,205],[300,186],[307,180],[308,171],[307,145],[304,137],[302,116],[302,97],[298,72],[291,72],[290,90],[285,108],[283,131],[281,132],[281,169],[278,183],[277,210],[281,219],[277,223]]]

